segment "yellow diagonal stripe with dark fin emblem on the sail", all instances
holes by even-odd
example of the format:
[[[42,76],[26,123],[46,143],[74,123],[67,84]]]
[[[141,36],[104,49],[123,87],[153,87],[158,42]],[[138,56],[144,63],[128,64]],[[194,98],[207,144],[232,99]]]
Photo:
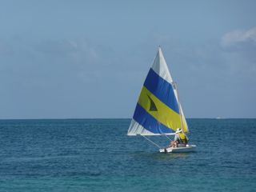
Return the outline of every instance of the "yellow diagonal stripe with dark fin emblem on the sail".
[[[154,103],[152,104],[152,102]],[[177,128],[181,128],[180,115],[161,102],[150,92],[150,90],[147,90],[145,86],[142,87],[141,94],[138,98],[138,104],[142,106],[147,113],[151,114],[158,122],[161,122],[168,128],[174,131],[177,130]],[[182,121],[182,125],[184,132],[186,132],[187,127],[184,121]]]

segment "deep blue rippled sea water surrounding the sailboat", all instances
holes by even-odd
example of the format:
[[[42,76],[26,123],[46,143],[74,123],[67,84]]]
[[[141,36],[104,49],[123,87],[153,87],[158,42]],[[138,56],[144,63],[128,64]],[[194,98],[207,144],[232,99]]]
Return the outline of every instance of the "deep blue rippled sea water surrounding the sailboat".
[[[129,124],[0,120],[0,191],[256,191],[256,119],[188,119],[188,154],[159,154]]]

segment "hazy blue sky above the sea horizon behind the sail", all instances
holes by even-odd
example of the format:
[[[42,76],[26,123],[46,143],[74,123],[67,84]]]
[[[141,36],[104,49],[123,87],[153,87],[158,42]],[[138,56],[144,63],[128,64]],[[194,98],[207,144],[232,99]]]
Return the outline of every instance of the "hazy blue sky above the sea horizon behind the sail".
[[[0,5],[0,119],[132,118],[158,46],[186,118],[256,118],[255,1]]]

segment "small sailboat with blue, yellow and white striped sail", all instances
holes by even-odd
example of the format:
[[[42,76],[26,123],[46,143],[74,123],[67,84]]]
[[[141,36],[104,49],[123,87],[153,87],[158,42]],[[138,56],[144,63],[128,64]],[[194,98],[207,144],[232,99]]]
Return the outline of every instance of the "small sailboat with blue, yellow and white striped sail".
[[[182,105],[179,102],[177,83],[170,76],[159,46],[138,97],[127,135],[141,135],[158,146],[160,153],[194,151],[195,145],[161,147],[147,137],[163,135],[169,138],[169,135],[175,135],[176,130],[180,129],[183,134],[189,133]]]

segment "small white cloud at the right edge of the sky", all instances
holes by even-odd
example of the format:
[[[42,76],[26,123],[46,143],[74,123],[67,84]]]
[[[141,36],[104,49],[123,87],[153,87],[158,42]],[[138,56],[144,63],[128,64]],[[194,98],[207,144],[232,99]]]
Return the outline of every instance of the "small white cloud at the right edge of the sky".
[[[224,34],[221,45],[224,47],[234,46],[241,42],[256,43],[256,26],[250,30],[233,30]]]

